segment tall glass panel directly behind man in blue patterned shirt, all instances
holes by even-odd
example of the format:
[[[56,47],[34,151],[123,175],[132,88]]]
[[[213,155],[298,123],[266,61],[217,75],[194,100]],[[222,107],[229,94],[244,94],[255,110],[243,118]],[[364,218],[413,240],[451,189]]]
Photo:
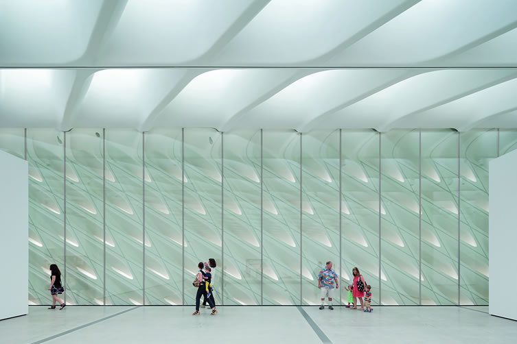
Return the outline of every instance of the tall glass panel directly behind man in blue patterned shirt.
[[[331,260],[339,273],[339,130],[302,137],[303,304],[319,304],[319,271]],[[334,291],[334,302],[339,292]]]

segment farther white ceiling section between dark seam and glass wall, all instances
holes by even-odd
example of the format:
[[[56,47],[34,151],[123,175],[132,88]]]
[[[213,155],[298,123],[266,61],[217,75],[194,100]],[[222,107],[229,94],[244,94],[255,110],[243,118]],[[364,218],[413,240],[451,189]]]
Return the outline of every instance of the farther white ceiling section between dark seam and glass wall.
[[[517,127],[517,69],[3,69],[0,127]]]

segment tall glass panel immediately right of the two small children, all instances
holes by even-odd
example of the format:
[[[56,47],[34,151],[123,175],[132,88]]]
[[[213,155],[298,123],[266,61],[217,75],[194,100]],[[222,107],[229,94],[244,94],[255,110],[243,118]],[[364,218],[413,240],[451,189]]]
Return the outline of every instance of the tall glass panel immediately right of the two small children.
[[[382,304],[419,304],[419,132],[382,133]]]

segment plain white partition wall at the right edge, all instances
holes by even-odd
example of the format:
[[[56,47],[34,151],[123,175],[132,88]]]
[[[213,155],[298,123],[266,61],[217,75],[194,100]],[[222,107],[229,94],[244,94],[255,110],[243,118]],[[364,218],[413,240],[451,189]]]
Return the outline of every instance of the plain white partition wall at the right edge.
[[[489,312],[517,320],[517,151],[490,161],[489,168]]]

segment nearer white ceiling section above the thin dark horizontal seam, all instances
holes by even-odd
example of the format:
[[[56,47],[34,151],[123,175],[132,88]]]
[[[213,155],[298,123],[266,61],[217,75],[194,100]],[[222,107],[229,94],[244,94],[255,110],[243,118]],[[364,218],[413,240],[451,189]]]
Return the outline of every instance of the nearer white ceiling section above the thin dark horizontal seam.
[[[517,66],[513,0],[5,0],[2,66]]]

